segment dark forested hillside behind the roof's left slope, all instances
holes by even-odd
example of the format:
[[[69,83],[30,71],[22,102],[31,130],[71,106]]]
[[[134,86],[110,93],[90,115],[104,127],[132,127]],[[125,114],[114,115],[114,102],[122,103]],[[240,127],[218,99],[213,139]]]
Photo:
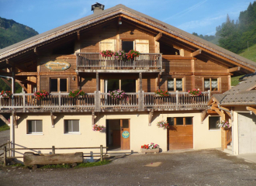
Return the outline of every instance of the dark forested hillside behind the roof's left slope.
[[[36,30],[29,26],[19,24],[12,19],[0,17],[0,49],[36,36],[37,34]]]

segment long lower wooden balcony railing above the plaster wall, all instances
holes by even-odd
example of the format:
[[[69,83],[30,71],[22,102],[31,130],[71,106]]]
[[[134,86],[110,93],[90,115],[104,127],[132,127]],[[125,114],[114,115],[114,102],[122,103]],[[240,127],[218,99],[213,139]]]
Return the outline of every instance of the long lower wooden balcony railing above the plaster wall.
[[[50,93],[47,98],[37,100],[33,94],[14,94],[13,98],[0,98],[0,112],[101,112],[105,110],[192,110],[207,108],[210,92],[202,92],[202,95],[192,97],[187,92],[169,92],[168,97],[158,97],[154,92],[138,91],[126,93],[126,98],[116,100],[109,93],[97,91],[85,94],[79,98],[70,98],[68,93]],[[36,111],[35,111],[36,110]]]

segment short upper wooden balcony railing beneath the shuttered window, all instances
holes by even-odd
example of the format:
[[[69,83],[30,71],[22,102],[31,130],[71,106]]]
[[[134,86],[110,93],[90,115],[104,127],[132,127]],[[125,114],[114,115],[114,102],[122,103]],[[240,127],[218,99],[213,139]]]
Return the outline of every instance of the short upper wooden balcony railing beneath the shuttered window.
[[[100,53],[77,53],[77,70],[161,70],[161,53],[140,53],[134,60],[116,60]]]

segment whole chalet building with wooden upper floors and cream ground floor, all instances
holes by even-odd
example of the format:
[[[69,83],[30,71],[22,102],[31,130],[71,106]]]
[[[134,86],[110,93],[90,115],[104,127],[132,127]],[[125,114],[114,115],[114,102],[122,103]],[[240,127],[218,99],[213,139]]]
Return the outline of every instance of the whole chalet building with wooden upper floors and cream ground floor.
[[[231,76],[254,73],[256,64],[124,5],[104,9],[96,3],[92,10],[0,50],[2,79],[24,89],[0,98],[0,114],[11,115],[12,147],[103,145],[133,152],[148,143],[162,151],[220,147],[219,115],[209,109],[209,98],[230,90]],[[137,50],[140,56],[103,57],[103,50]],[[202,93],[192,96],[188,91],[194,88]],[[109,91],[117,89],[126,96],[112,98]],[[71,98],[76,90],[85,95]],[[35,91],[49,95],[37,99]],[[169,129],[157,127],[162,120]],[[93,131],[95,124],[106,129]]]

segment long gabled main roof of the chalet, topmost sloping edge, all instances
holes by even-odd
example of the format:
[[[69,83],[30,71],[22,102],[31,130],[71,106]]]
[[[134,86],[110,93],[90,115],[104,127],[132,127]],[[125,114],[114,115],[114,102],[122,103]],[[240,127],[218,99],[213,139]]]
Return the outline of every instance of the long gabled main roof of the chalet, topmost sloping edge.
[[[50,31],[47,31],[46,33],[41,33],[27,40],[23,40],[19,43],[13,44],[12,46],[5,47],[2,50],[0,50],[0,60],[3,58],[8,58],[10,55],[14,53],[19,53],[22,50],[36,47],[37,45],[40,45],[41,43],[47,40],[52,40],[58,36],[63,36],[64,34],[67,34],[67,33],[72,33],[72,32],[74,33],[76,30],[81,29],[84,26],[88,26],[94,22],[97,22],[102,18],[105,19],[112,15],[118,15],[118,14],[128,15],[133,19],[140,20],[140,22],[147,23],[148,25],[154,26],[157,29],[161,29],[166,33],[170,33],[174,36],[178,36],[178,38],[187,40],[190,43],[195,44],[196,46],[202,47],[213,53],[219,54],[222,57],[226,57],[227,59],[235,61],[238,64],[244,65],[245,67],[249,67],[254,71],[256,70],[256,63],[254,63],[254,61],[248,60],[244,57],[240,57],[236,53],[232,53],[229,50],[225,50],[222,47],[218,47],[213,43],[209,43],[206,40],[202,40],[197,36],[194,36],[190,33],[186,33],[182,29],[175,28],[174,26],[168,25],[165,22],[161,22],[141,12],[137,12],[133,9],[130,9],[125,5],[116,5],[102,12],[100,11],[95,12],[92,15],[88,15],[74,22],[67,23],[64,26],[59,26],[56,29],[51,29]]]

